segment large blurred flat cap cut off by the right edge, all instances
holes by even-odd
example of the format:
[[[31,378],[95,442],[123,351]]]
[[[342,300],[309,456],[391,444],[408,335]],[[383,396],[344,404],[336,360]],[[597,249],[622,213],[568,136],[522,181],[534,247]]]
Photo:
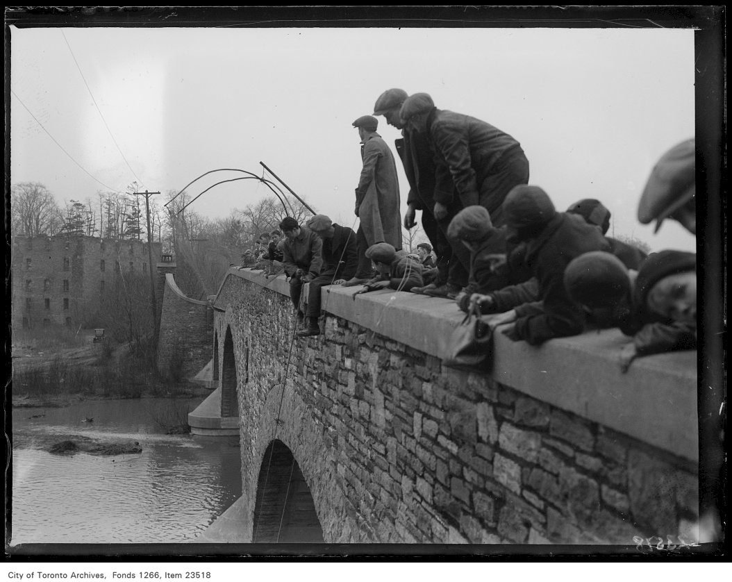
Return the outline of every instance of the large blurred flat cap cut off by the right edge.
[[[663,154],[643,189],[638,203],[638,221],[648,224],[657,219],[657,232],[665,218],[692,202],[696,194],[695,174],[693,139],[682,141]]]

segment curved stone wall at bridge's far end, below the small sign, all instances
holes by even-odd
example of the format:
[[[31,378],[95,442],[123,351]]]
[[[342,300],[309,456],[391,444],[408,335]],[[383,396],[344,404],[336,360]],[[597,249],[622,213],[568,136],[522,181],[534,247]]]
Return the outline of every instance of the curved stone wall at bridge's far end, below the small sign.
[[[193,378],[211,359],[214,313],[207,302],[184,296],[166,275],[160,308],[157,369],[163,376]]]

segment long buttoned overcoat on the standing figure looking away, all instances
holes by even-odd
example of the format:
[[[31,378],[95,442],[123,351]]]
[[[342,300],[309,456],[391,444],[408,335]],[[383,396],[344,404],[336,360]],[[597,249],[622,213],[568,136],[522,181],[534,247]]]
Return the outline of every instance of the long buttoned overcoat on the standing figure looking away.
[[[361,147],[363,168],[356,187],[356,214],[368,246],[388,242],[402,247],[401,215],[399,213],[399,180],[394,154],[378,133],[365,138]]]

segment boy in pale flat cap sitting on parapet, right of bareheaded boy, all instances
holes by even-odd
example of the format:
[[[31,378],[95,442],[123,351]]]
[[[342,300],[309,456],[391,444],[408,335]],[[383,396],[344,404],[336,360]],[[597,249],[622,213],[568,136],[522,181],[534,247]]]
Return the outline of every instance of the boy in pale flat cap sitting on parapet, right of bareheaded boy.
[[[359,264],[356,250],[356,233],[348,226],[332,223],[325,214],[315,214],[307,221],[307,228],[322,241],[323,266],[320,275],[310,281],[307,292],[307,327],[297,332],[299,336],[320,335],[318,317],[321,312],[321,288],[341,285],[356,275]]]

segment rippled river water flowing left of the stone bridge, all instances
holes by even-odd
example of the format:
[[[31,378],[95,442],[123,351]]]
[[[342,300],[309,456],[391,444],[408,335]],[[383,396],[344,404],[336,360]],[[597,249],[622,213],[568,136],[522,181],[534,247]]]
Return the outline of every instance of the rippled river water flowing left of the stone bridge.
[[[158,423],[202,400],[13,408],[10,545],[193,541],[242,489],[238,437],[165,435]],[[142,453],[46,452],[74,436],[138,441]]]

